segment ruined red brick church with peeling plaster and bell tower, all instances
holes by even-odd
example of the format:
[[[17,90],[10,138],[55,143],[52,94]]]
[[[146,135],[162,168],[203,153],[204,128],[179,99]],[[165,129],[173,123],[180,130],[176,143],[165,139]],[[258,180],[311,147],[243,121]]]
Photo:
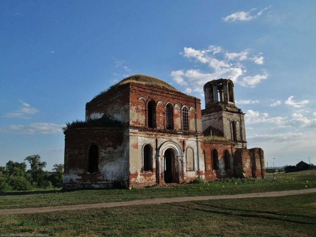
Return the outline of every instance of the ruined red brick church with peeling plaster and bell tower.
[[[144,75],[100,93],[85,121],[64,128],[64,189],[264,178],[264,153],[247,149],[233,82],[207,82],[204,95],[201,110],[200,99]]]

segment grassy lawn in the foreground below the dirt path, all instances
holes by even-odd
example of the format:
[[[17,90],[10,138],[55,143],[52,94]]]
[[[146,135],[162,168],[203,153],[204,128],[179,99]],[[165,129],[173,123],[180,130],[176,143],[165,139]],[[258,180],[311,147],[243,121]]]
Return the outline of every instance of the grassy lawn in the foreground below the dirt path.
[[[315,236],[316,196],[3,215],[0,230],[49,236]]]

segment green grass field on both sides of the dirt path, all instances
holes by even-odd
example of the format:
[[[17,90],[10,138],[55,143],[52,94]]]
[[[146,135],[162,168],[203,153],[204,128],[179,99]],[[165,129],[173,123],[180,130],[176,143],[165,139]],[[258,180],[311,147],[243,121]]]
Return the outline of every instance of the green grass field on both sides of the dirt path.
[[[315,188],[316,171],[131,190],[5,193],[0,208]],[[0,234],[49,236],[315,236],[316,194],[220,199],[0,216]]]

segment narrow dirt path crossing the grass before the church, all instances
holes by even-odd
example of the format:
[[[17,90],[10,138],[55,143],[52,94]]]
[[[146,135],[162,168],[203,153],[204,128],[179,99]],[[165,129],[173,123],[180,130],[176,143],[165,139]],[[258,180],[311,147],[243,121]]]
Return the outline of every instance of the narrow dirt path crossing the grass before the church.
[[[279,191],[279,192],[247,193],[247,194],[236,194],[236,195],[154,198],[154,199],[143,199],[143,200],[134,200],[134,201],[127,201],[127,202],[115,202],[115,203],[96,203],[96,204],[79,204],[79,205],[56,206],[56,207],[1,209],[0,215],[40,213],[40,212],[50,212],[50,211],[65,211],[65,210],[83,210],[83,209],[89,209],[89,208],[119,207],[119,206],[131,206],[131,205],[140,205],[140,204],[143,205],[143,204],[179,203],[179,202],[187,202],[187,201],[228,199],[228,198],[279,197],[279,196],[289,196],[289,195],[298,195],[298,194],[315,193],[315,192],[316,192],[316,188],[292,190],[292,191]]]

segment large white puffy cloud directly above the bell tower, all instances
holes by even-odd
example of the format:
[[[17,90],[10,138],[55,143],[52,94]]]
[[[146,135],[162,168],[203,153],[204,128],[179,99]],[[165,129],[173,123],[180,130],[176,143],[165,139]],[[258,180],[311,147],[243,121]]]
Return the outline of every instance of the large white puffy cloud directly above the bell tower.
[[[252,88],[260,83],[261,80],[268,78],[268,74],[264,72],[262,75],[245,75],[247,73],[246,62],[263,64],[263,53],[252,55],[251,51],[251,49],[245,49],[241,52],[228,52],[224,51],[221,46],[213,45],[207,49],[184,47],[180,55],[200,64],[194,65],[195,67],[205,65],[212,72],[204,73],[200,69],[174,70],[170,76],[179,85],[190,85],[191,90],[195,92],[203,92],[201,85],[218,78],[230,78],[234,83]]]

